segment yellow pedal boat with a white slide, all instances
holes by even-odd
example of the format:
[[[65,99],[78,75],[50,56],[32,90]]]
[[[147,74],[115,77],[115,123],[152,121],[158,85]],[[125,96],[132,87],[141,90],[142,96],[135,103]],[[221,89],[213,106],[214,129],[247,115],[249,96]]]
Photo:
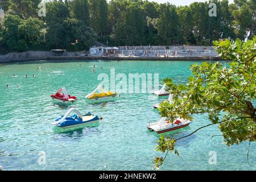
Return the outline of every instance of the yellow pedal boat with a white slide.
[[[96,93],[98,92],[98,93]],[[101,85],[97,86],[92,93],[85,96],[89,101],[112,101],[117,96],[117,93],[106,91]]]

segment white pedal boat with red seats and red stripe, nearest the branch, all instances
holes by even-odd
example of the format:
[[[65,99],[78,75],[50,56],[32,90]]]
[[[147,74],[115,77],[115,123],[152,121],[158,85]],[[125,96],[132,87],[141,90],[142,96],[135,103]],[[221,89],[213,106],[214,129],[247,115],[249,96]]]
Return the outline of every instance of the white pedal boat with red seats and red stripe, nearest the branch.
[[[177,118],[174,122],[170,122],[167,118],[160,118],[159,121],[154,123],[148,123],[147,129],[150,131],[155,131],[158,134],[166,133],[168,131],[173,131],[187,127],[191,121],[188,121],[183,118]]]

